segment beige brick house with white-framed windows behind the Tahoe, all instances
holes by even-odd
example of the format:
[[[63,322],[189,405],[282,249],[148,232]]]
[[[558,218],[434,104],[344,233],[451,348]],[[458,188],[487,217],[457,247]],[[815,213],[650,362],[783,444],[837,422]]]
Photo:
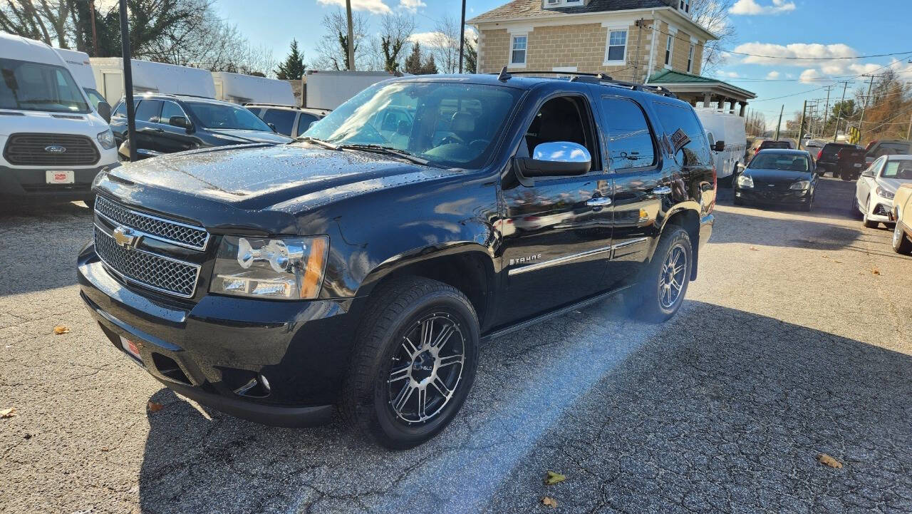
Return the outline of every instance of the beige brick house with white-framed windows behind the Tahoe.
[[[478,68],[606,72],[644,82],[656,71],[700,74],[716,39],[690,19],[690,0],[513,0],[468,23]]]

